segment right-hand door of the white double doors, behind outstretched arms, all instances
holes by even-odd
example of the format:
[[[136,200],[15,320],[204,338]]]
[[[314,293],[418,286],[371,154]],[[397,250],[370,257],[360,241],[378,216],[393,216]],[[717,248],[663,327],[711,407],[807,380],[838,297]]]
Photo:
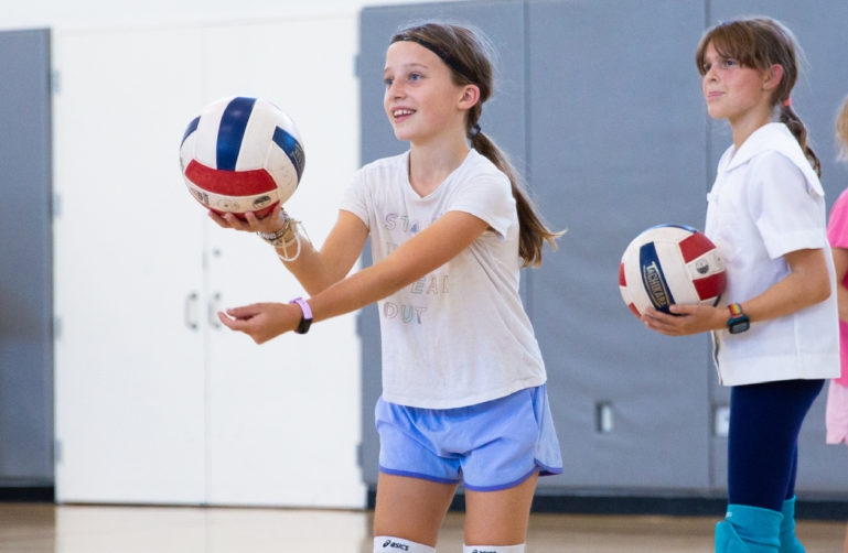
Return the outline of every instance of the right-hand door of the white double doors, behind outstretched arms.
[[[287,208],[321,245],[357,164],[357,99],[340,94],[356,89],[355,18],[212,28],[205,39],[206,101],[257,96],[294,119],[307,164]],[[210,227],[221,253],[210,284],[224,306],[308,295],[259,238]],[[226,329],[210,338],[210,502],[362,507],[354,315],[262,346]]]

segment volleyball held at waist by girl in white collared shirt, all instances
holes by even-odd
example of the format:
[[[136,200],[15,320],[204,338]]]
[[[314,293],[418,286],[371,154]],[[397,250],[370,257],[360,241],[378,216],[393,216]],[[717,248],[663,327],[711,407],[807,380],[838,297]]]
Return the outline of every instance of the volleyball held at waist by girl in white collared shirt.
[[[706,235],[684,225],[657,225],[641,232],[619,265],[621,297],[634,315],[648,306],[670,313],[673,304],[718,305],[724,262]]]

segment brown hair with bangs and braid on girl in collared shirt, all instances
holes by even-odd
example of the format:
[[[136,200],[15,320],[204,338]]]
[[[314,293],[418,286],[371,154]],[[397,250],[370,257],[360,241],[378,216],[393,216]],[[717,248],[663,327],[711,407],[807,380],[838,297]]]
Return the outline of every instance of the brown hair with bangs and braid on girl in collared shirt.
[[[822,164],[807,143],[807,129],[792,109],[790,101],[792,88],[798,78],[798,64],[803,55],[792,31],[771,18],[750,18],[720,23],[707,30],[698,44],[695,64],[701,76],[707,73],[704,58],[710,43],[721,57],[736,59],[743,67],[759,71],[765,71],[774,64],[783,67],[783,78],[772,95],[772,107],[780,105],[780,122],[792,131],[809,160],[809,164],[816,170],[818,176],[822,176]]]

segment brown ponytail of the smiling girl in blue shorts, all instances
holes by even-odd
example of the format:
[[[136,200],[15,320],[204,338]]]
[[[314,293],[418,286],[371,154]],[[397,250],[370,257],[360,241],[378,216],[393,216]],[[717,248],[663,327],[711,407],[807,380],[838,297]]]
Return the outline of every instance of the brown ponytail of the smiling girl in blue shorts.
[[[539,267],[541,264],[541,250],[545,242],[550,246],[551,250],[556,250],[556,239],[562,236],[565,231],[555,232],[548,228],[518,180],[518,173],[509,163],[506,154],[489,137],[481,132],[476,123],[472,127],[469,134],[474,150],[487,158],[509,178],[515,206],[518,210],[518,256],[524,261],[522,267]]]

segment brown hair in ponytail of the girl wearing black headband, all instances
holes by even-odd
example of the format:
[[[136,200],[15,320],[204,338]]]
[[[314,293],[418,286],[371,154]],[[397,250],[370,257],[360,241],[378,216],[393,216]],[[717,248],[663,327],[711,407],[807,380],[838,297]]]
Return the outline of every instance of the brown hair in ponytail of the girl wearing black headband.
[[[399,31],[391,37],[393,43],[398,41],[414,41],[422,44],[450,67],[455,85],[476,85],[480,88],[480,101],[469,110],[465,119],[465,133],[474,150],[486,156],[509,178],[518,210],[518,254],[524,261],[523,267],[539,267],[545,242],[556,250],[556,239],[562,232],[552,231],[547,227],[524,188],[518,172],[509,163],[506,154],[479,127],[483,104],[493,93],[494,67],[491,55],[493,48],[479,31],[433,22]]]

